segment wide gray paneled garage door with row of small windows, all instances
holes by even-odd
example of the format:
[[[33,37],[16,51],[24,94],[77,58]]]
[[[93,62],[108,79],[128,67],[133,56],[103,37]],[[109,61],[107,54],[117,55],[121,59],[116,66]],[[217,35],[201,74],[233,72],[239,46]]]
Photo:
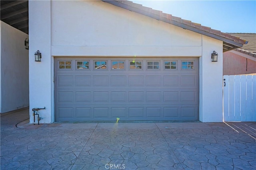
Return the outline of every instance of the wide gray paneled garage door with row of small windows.
[[[55,120],[198,120],[198,58],[55,58]]]

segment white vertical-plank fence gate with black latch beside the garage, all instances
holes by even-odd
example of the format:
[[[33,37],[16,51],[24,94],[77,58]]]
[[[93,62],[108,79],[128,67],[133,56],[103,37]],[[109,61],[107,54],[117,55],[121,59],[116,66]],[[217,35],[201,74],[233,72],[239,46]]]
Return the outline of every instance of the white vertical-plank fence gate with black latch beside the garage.
[[[223,76],[224,121],[256,121],[256,75]]]

